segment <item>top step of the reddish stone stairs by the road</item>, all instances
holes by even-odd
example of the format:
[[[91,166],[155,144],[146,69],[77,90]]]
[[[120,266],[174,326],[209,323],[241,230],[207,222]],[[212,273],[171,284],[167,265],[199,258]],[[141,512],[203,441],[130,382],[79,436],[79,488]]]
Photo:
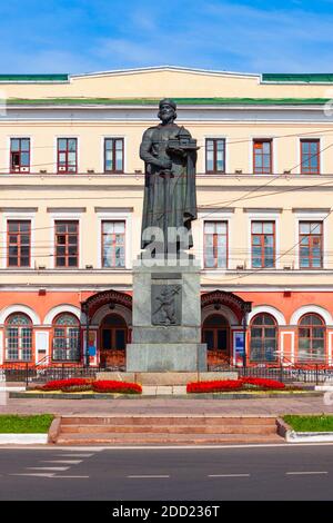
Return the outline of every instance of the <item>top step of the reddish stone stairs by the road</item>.
[[[269,425],[275,416],[62,416],[61,425]]]

